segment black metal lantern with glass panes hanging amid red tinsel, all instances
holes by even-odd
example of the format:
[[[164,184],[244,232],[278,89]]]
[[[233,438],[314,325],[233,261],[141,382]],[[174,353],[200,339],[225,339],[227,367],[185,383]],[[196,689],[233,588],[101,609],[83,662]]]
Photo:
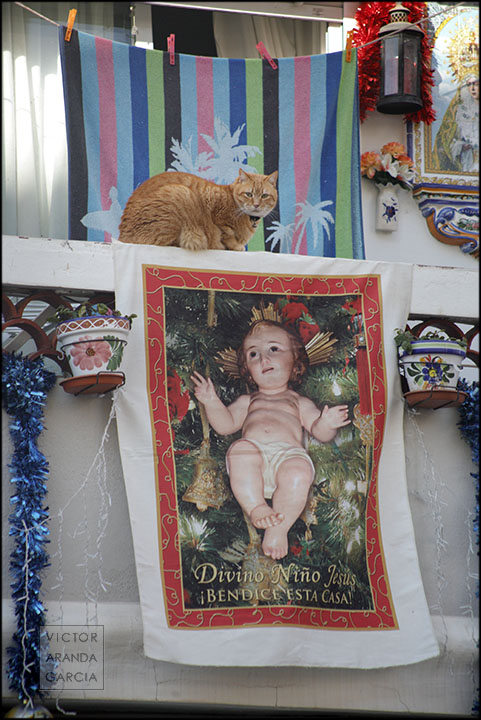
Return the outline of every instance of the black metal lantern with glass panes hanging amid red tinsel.
[[[423,31],[407,22],[409,10],[401,3],[389,11],[390,20],[379,36],[398,31],[381,40],[381,85],[376,109],[389,115],[421,110],[421,40]]]

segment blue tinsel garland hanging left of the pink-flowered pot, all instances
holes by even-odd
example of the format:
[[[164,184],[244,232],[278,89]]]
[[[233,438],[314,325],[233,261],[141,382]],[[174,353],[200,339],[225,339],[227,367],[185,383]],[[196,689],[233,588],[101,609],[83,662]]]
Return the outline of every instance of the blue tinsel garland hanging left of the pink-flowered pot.
[[[40,573],[49,563],[45,544],[48,508],[42,507],[47,494],[48,463],[37,448],[43,430],[43,408],[56,375],[46,370],[43,359],[29,360],[21,354],[2,354],[2,404],[8,415],[14,451],[9,469],[16,492],[10,498],[14,510],[9,516],[9,534],[15,538],[10,572],[17,630],[13,646],[7,648],[9,687],[19,700],[33,701],[40,691],[40,636],[45,610],[40,600]]]

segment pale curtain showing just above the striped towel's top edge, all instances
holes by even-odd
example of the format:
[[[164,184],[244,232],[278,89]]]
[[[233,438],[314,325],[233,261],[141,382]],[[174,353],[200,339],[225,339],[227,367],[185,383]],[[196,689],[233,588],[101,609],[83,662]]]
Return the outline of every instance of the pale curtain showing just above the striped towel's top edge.
[[[326,23],[259,15],[214,12],[214,37],[219,57],[258,58],[258,42],[271,57],[298,57],[326,52]]]

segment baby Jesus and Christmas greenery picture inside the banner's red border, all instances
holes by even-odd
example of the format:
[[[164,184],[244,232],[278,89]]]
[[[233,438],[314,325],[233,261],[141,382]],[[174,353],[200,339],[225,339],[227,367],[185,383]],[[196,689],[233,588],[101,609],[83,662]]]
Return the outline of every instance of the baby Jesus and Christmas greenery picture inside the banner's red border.
[[[371,609],[360,296],[165,288],[165,317],[186,609]]]

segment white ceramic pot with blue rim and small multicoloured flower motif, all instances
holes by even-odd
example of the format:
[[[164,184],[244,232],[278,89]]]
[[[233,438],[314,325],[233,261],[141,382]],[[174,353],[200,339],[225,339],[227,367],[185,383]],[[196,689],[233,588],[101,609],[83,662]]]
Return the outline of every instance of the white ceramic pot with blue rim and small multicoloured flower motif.
[[[455,341],[435,338],[413,340],[411,345],[410,354],[401,351],[399,358],[409,391],[456,390],[466,350]]]

